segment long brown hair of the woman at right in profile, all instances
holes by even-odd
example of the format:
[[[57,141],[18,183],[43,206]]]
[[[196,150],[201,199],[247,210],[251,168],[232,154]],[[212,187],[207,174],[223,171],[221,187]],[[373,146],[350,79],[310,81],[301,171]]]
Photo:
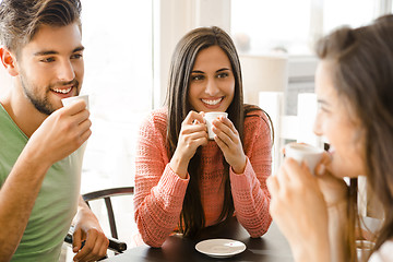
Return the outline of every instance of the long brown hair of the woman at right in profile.
[[[393,237],[393,15],[333,32],[320,40],[317,55],[332,63],[334,87],[362,127],[367,181],[384,210],[377,250]]]

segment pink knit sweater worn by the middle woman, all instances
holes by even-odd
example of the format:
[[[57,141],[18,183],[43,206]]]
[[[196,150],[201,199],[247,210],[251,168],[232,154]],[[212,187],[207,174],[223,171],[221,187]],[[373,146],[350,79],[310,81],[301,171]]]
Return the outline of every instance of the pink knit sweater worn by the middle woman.
[[[271,133],[262,111],[245,120],[243,174],[229,170],[235,214],[251,237],[262,236],[271,224],[270,194],[265,180],[271,175]],[[177,228],[189,182],[169,167],[166,150],[167,112],[153,111],[140,129],[135,170],[135,222],[143,241],[160,247]],[[223,153],[214,141],[202,148],[201,199],[206,226],[219,223],[223,209]]]

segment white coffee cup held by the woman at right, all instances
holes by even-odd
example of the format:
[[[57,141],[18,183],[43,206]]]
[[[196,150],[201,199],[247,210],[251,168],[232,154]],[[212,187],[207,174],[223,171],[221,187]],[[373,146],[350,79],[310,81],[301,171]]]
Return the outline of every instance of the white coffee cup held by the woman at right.
[[[323,150],[308,144],[290,143],[285,145],[285,157],[294,158],[297,163],[306,162],[313,174],[317,164],[321,160]]]

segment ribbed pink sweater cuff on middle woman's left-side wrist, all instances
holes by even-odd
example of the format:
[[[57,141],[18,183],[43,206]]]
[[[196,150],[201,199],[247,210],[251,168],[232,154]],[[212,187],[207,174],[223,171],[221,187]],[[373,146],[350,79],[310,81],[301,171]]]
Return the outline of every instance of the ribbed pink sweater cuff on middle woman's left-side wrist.
[[[159,179],[158,188],[171,196],[183,196],[186,194],[187,186],[190,181],[190,177],[187,174],[187,178],[182,179],[166,165],[163,176]]]

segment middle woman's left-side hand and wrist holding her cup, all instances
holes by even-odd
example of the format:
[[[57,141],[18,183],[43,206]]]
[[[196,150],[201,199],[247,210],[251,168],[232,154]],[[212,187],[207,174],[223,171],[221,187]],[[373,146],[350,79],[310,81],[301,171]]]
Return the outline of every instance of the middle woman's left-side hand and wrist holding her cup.
[[[178,144],[169,166],[179,177],[186,178],[190,159],[201,145],[207,144],[207,130],[203,112],[190,111],[181,123]]]

